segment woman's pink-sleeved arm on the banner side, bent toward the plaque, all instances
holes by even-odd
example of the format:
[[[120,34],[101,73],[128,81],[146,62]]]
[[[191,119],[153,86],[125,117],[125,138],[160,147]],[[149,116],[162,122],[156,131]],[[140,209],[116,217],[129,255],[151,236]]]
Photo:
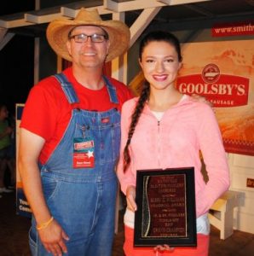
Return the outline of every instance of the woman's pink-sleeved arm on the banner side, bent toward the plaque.
[[[228,190],[229,170],[215,114],[208,106],[204,106],[199,114],[199,119],[202,120],[199,125],[199,145],[209,177],[205,190],[199,193],[201,204],[197,213],[202,215],[211,208],[222,193]]]

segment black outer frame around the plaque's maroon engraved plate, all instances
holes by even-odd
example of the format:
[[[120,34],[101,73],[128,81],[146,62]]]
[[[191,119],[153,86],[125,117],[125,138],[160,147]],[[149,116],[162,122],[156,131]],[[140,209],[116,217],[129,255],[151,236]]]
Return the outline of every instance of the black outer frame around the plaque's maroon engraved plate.
[[[176,177],[182,176],[184,179],[185,193],[185,235],[184,236],[144,236],[143,225],[147,223],[147,214],[149,212],[149,202],[147,199],[146,183],[150,177]],[[166,182],[165,182],[166,184]],[[181,191],[182,192],[182,191]],[[184,168],[169,168],[165,170],[138,170],[136,173],[136,204],[137,211],[135,212],[135,247],[154,247],[156,245],[167,244],[171,247],[196,247],[197,232],[196,232],[196,210],[195,210],[195,182],[193,167]],[[148,205],[148,207],[147,207]],[[150,222],[148,221],[148,226]],[[153,223],[154,224],[154,223]],[[147,225],[147,224],[146,224]],[[152,224],[151,224],[152,225]]]

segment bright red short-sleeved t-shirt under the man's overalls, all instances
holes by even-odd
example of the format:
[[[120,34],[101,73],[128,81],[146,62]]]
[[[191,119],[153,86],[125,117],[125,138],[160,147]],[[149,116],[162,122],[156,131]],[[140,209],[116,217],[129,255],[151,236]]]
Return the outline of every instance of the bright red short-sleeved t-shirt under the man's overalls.
[[[109,78],[117,90],[119,104],[114,104],[110,102],[107,86],[101,90],[89,90],[74,78],[72,67],[67,68],[63,73],[72,83],[81,109],[107,111],[111,108],[118,108],[120,111],[123,103],[132,97],[126,85]],[[71,105],[55,77],[43,79],[33,86],[22,113],[20,127],[45,139],[46,142],[39,156],[42,163],[48,160],[49,155],[61,140],[71,115]]]

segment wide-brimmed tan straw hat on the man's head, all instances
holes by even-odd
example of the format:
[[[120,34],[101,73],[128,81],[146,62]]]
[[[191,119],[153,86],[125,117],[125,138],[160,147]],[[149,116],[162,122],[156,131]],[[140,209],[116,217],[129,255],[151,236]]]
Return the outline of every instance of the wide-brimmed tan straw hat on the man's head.
[[[122,21],[119,20],[101,20],[101,16],[97,9],[88,11],[84,8],[80,9],[74,20],[59,19],[49,23],[47,28],[47,39],[55,50],[57,55],[67,61],[72,61],[66,48],[69,32],[75,26],[101,26],[109,37],[110,47],[106,61],[111,61],[118,55],[123,54],[130,44],[130,29]]]

